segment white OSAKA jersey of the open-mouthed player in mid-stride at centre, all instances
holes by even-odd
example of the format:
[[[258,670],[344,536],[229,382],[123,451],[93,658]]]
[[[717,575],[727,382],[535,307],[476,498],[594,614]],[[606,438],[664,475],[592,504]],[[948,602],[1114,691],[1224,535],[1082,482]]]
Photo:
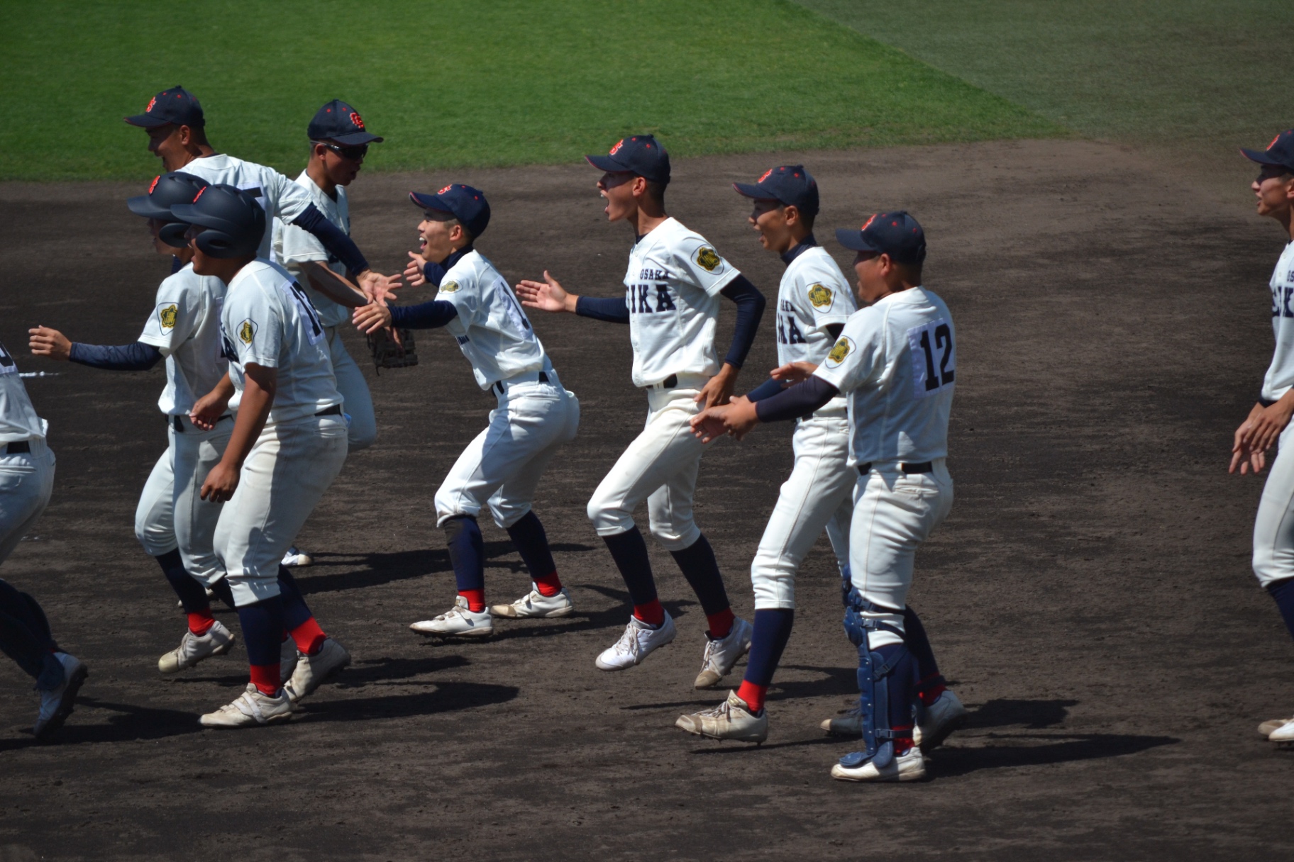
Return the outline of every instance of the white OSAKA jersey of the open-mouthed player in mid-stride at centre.
[[[741,273],[700,234],[666,218],[634,244],[625,273],[634,385],[719,370],[719,292]]]

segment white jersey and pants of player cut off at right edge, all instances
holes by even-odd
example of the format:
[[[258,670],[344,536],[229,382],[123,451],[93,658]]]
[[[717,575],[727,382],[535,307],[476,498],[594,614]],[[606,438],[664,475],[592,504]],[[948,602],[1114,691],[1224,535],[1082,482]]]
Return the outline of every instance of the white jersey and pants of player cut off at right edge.
[[[1294,385],[1294,242],[1285,246],[1272,273],[1272,331],[1276,350],[1263,379],[1263,401],[1280,401]],[[1294,578],[1294,423],[1277,443],[1254,520],[1254,574],[1263,587]]]

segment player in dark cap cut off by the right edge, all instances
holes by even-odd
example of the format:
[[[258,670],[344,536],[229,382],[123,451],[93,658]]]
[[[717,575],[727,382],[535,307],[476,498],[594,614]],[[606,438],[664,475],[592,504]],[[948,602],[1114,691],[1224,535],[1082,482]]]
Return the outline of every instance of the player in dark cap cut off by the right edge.
[[[1236,429],[1231,472],[1256,476],[1267,465],[1267,451],[1277,446],[1254,521],[1254,574],[1294,635],[1294,129],[1277,134],[1266,150],[1241,152],[1262,165],[1251,186],[1258,215],[1278,221],[1289,242],[1271,280],[1276,350],[1258,403]],[[1258,731],[1275,743],[1294,743],[1294,719],[1264,721]]]

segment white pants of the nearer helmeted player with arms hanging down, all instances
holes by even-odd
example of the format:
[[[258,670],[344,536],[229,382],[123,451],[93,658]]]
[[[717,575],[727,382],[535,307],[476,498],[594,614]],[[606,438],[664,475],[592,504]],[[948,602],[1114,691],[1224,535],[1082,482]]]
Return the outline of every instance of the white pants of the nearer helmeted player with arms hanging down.
[[[278,594],[278,563],[345,463],[345,420],[265,425],[220,512],[215,551],[239,607]]]

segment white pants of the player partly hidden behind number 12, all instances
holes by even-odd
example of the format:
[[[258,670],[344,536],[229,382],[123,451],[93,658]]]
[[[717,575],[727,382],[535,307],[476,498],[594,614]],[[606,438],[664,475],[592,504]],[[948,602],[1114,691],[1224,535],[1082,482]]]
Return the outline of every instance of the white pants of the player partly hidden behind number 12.
[[[849,562],[849,523],[858,472],[849,467],[849,420],[814,416],[796,424],[796,464],[782,485],[751,563],[754,609],[795,609],[796,573],[823,530],[836,565]]]

